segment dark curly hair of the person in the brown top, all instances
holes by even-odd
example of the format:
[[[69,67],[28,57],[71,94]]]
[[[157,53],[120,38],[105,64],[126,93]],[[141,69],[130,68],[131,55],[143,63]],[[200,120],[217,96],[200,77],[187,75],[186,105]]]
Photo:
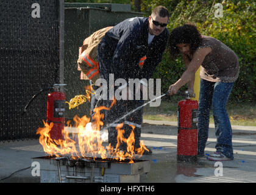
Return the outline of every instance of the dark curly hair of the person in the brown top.
[[[193,54],[201,44],[201,34],[193,24],[184,24],[173,29],[169,35],[168,50],[172,59],[180,54],[177,44],[190,44],[190,52]]]

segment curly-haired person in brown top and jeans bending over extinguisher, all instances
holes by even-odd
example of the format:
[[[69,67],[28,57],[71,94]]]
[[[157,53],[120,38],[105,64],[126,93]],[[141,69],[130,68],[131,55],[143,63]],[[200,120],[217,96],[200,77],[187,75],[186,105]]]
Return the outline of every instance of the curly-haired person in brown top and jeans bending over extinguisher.
[[[186,66],[186,71],[180,79],[170,85],[170,95],[176,94],[186,83],[188,83],[188,91],[193,93],[194,74],[201,66],[197,156],[204,157],[212,107],[217,142],[216,152],[208,155],[207,159],[233,160],[232,129],[226,103],[238,78],[238,57],[221,41],[201,35],[192,24],[185,24],[172,30],[168,46],[174,59],[182,54]]]

